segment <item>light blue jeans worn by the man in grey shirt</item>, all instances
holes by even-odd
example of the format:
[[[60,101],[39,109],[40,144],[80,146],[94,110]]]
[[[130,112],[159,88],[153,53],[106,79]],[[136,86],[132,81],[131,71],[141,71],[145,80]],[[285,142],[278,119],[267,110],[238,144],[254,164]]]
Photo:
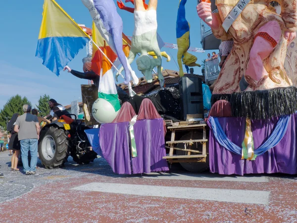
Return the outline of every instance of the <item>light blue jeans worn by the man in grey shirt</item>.
[[[38,140],[37,139],[23,139],[20,140],[21,143],[21,152],[22,152],[22,162],[24,171],[36,171],[36,164],[37,164],[37,146]],[[31,155],[31,162],[29,167],[28,162],[28,153],[30,151]]]

